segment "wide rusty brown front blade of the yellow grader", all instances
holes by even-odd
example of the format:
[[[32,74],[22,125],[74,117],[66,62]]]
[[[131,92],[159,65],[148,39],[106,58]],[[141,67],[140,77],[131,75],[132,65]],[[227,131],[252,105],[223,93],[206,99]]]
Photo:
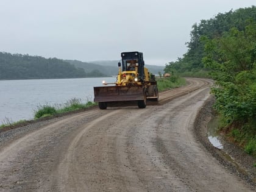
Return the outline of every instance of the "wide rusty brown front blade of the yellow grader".
[[[94,102],[138,101],[144,99],[142,85],[94,87]]]

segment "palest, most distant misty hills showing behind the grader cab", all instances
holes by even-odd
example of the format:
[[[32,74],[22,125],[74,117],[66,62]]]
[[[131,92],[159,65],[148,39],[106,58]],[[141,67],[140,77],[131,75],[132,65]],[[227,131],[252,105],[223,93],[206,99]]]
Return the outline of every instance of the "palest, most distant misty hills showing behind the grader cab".
[[[92,61],[90,63],[94,63],[96,65],[101,65],[101,66],[115,66],[115,71],[112,71],[112,73],[116,74],[118,73],[118,62],[119,60],[103,60],[103,61]],[[157,66],[157,65],[147,65],[145,64],[145,67],[149,69],[149,71],[152,74],[158,74],[158,72],[163,74],[163,69],[165,69],[165,66]],[[110,74],[113,75],[113,74]]]

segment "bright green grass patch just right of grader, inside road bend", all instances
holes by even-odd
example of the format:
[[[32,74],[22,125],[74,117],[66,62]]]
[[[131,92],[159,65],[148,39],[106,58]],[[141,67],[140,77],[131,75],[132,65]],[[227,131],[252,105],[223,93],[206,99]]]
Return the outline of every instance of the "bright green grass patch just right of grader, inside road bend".
[[[186,85],[186,80],[183,77],[171,76],[157,79],[158,91],[165,91],[171,88],[177,88]]]

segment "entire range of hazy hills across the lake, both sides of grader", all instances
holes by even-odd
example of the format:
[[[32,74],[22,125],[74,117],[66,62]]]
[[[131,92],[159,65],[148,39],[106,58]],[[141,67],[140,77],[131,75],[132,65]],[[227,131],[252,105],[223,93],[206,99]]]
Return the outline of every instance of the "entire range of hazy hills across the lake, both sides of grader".
[[[153,74],[164,66],[145,65]],[[118,60],[95,63],[0,52],[0,79],[62,79],[118,74]]]

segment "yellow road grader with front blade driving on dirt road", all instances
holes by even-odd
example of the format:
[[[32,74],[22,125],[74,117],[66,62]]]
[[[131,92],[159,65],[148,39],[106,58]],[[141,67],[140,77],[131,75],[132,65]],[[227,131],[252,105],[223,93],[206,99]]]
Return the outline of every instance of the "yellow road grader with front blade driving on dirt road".
[[[105,86],[94,87],[94,102],[99,108],[106,109],[113,103],[137,103],[145,108],[147,100],[158,101],[158,89],[155,76],[144,67],[143,53],[122,52],[118,62],[116,82],[102,82]]]

